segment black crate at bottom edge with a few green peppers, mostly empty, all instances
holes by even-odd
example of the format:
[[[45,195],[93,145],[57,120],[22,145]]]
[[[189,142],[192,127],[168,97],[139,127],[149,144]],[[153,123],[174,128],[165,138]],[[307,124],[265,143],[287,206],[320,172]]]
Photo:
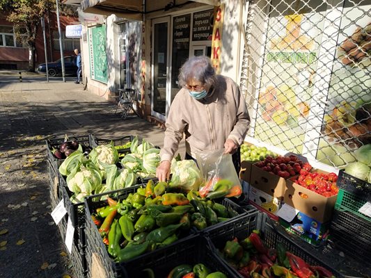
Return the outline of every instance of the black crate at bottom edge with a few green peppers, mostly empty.
[[[206,277],[207,270],[203,265],[199,265],[200,263],[205,265],[210,273],[222,272],[226,277],[235,277],[233,272],[215,256],[206,238],[200,235],[178,240],[173,245],[124,263],[123,266],[125,277],[128,278],[150,277],[145,276],[146,271],[143,270],[146,269],[152,270],[154,277],[184,277],[187,272],[194,272],[196,277]]]

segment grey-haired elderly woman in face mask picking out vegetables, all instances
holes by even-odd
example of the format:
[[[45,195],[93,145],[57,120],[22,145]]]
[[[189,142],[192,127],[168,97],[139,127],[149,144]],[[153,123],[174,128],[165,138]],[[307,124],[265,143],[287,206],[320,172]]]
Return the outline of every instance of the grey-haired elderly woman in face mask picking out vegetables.
[[[239,146],[244,142],[250,117],[244,97],[232,79],[216,75],[206,56],[189,58],[179,74],[182,89],[171,104],[161,163],[156,176],[169,179],[171,160],[179,142],[186,136],[186,158],[196,158],[196,152],[225,149],[239,161]]]

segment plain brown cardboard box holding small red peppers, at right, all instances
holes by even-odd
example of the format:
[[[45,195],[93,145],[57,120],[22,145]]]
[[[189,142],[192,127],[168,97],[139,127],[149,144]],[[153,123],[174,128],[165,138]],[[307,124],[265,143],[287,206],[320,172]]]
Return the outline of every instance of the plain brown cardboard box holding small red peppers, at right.
[[[324,197],[294,181],[286,181],[284,202],[321,223],[331,220],[338,195]]]

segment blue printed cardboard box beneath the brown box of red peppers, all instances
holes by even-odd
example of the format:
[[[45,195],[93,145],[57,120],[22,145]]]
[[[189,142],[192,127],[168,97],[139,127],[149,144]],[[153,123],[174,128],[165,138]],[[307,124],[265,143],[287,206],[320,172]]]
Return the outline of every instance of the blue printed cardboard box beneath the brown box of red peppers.
[[[287,232],[296,234],[312,245],[323,244],[329,236],[330,222],[319,222],[287,204],[283,204],[277,214],[280,224]]]

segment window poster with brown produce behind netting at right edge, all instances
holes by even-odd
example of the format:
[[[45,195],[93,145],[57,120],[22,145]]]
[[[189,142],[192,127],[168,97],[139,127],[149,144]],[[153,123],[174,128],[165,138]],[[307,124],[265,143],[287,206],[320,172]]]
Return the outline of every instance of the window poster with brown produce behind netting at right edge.
[[[371,144],[371,5],[345,4],[317,160],[336,167]]]

